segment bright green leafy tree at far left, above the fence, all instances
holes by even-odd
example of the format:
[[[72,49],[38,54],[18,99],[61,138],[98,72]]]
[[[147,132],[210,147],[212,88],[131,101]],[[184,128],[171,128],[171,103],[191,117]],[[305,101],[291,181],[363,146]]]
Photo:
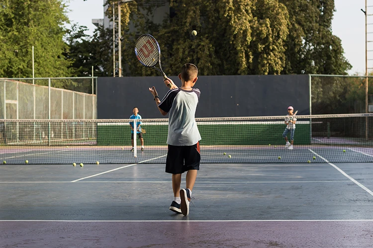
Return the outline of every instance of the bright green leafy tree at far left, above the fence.
[[[68,21],[62,0],[3,0],[0,8],[0,77],[69,76],[70,61],[63,56]]]

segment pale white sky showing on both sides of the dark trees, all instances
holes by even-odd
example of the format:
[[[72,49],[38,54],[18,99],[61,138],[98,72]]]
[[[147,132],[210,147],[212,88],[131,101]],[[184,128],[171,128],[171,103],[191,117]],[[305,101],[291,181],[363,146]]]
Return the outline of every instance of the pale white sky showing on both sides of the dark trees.
[[[87,34],[92,35],[95,26],[92,19],[103,18],[104,0],[70,0],[68,17],[71,22],[87,26]],[[334,0],[336,12],[332,21],[332,32],[342,41],[346,59],[353,66],[348,73],[365,74],[365,15],[360,9],[365,9],[365,0]],[[373,0],[368,0],[373,5]],[[373,14],[373,7],[368,8],[368,14]],[[368,16],[368,23],[373,23],[373,15]],[[373,25],[368,25],[368,32],[373,32]],[[373,41],[373,33],[368,35],[368,41]],[[373,50],[373,42],[368,46]],[[373,52],[368,52],[368,59],[373,59]],[[373,60],[368,62],[373,67]]]

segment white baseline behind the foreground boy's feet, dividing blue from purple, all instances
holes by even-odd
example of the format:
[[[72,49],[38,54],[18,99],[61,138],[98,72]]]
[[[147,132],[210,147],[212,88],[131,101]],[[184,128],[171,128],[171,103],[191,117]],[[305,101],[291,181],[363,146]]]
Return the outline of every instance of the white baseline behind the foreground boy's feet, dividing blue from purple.
[[[353,222],[358,220],[0,220],[0,222]]]

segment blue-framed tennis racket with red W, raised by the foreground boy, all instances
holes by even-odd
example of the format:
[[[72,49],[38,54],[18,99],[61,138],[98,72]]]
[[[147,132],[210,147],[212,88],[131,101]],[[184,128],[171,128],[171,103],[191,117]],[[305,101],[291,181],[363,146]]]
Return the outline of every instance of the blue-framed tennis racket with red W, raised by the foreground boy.
[[[141,35],[136,41],[135,54],[141,64],[153,67],[161,72],[164,80],[167,79],[161,65],[161,48],[153,36],[150,34]],[[156,67],[157,63],[159,63],[159,68]],[[169,88],[171,88],[171,84],[169,84]]]

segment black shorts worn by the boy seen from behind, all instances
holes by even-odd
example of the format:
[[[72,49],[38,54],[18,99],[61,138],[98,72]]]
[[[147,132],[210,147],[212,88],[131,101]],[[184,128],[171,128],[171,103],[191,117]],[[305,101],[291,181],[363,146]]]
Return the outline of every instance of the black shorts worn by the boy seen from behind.
[[[189,146],[169,145],[166,172],[182,174],[188,170],[199,170],[200,161],[199,142]]]

